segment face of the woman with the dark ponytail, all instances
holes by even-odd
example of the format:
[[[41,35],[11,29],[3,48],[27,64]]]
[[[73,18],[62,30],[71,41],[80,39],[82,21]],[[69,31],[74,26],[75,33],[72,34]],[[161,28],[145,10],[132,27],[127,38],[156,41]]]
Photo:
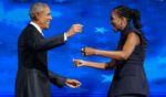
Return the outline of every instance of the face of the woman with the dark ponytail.
[[[122,26],[122,18],[120,18],[117,15],[117,12],[116,11],[113,11],[112,14],[111,14],[111,24],[113,26],[113,30],[115,32],[120,31],[121,30],[121,26]]]

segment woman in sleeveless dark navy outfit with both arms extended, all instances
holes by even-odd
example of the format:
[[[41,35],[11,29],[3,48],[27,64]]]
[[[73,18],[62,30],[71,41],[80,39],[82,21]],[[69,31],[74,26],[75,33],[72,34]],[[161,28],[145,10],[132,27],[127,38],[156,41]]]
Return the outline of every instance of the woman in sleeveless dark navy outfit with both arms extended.
[[[138,10],[118,6],[111,12],[111,23],[115,32],[121,32],[116,51],[83,48],[85,56],[100,55],[112,62],[96,63],[75,60],[75,65],[102,69],[115,69],[107,97],[146,97],[148,85],[144,72],[146,39],[142,32]]]

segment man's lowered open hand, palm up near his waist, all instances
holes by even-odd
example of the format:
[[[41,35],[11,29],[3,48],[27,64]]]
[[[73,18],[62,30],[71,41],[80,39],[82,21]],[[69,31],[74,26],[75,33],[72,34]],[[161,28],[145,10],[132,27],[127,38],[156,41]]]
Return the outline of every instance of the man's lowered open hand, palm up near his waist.
[[[71,88],[77,88],[81,86],[81,83],[76,79],[66,79],[65,85]]]

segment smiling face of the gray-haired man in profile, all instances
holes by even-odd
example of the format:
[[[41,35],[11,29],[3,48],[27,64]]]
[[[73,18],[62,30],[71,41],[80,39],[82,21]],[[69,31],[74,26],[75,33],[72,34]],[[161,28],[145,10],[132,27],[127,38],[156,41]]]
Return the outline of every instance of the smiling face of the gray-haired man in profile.
[[[52,20],[49,7],[43,8],[43,11],[39,13],[38,20],[39,20],[39,26],[42,30],[49,29],[50,21]]]

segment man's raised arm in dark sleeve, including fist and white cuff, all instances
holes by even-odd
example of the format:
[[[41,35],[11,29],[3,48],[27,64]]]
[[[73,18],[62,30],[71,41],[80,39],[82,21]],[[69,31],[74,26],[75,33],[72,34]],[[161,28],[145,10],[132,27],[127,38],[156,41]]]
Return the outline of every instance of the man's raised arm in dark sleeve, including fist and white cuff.
[[[28,46],[35,51],[48,51],[50,48],[64,44],[65,41],[74,34],[81,33],[82,26],[82,24],[73,24],[66,33],[55,35],[51,39],[41,37],[41,34],[39,32],[31,29],[28,36]]]

